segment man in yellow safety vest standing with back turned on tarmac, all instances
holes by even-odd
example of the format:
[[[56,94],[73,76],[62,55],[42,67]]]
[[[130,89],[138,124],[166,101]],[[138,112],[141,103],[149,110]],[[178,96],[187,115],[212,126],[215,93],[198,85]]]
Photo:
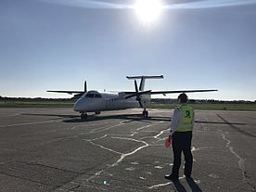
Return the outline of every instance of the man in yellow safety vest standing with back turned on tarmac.
[[[185,171],[187,179],[191,178],[193,156],[191,153],[192,130],[194,126],[194,109],[186,104],[186,94],[178,96],[178,103],[181,104],[173,111],[169,141],[172,140],[173,146],[173,170],[166,179],[178,181],[179,169],[181,166],[181,154],[185,156]]]

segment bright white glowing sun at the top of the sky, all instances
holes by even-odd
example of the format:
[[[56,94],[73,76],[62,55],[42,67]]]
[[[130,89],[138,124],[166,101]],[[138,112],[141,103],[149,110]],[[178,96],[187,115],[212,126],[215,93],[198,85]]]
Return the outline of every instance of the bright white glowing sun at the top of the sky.
[[[138,18],[149,24],[160,17],[162,7],[160,0],[137,0],[134,9]]]

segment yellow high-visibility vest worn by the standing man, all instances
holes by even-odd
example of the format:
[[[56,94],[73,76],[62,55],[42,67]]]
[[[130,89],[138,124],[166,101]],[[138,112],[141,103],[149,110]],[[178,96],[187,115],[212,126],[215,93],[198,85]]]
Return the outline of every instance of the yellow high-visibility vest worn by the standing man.
[[[176,132],[191,132],[194,119],[194,110],[186,104],[178,107],[179,120]]]

